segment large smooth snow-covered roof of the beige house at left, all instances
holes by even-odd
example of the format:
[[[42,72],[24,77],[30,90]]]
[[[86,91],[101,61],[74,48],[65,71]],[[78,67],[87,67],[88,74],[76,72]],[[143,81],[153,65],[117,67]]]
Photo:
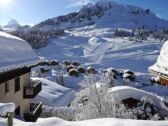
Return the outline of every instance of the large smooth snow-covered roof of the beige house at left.
[[[39,61],[26,41],[0,31],[0,72],[35,65]]]

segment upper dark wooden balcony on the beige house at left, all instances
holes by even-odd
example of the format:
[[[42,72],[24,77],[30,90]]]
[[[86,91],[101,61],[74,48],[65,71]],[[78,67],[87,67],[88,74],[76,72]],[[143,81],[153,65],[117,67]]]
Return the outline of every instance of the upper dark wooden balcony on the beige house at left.
[[[24,87],[23,97],[32,99],[42,90],[41,81],[32,82],[30,86]]]

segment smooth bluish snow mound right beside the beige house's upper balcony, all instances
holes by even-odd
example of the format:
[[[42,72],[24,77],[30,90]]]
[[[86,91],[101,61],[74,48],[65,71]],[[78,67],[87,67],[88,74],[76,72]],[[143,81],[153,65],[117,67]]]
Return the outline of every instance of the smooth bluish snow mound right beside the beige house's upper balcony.
[[[42,91],[35,97],[35,101],[42,101],[47,106],[68,106],[74,98],[75,91],[63,87],[45,78],[33,77],[32,80],[42,81]]]

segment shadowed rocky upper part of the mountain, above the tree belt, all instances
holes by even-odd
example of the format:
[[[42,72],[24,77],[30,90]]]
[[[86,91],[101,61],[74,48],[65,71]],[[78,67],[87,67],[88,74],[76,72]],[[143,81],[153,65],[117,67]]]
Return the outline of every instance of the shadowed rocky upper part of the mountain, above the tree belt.
[[[149,9],[101,0],[83,6],[78,12],[48,19],[34,26],[35,29],[77,28],[96,25],[103,28],[168,28],[168,21],[158,18]],[[54,26],[54,27],[53,27]]]

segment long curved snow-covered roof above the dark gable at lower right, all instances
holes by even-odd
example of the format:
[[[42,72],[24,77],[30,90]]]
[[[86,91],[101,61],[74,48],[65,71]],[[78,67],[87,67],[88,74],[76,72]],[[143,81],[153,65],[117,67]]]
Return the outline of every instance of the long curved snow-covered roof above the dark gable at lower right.
[[[162,101],[167,102],[162,97],[154,95],[152,93],[129,87],[129,86],[116,86],[109,90],[109,93],[117,96],[117,100],[122,101],[128,98],[134,98],[136,100],[141,100],[143,97],[148,97],[152,100],[153,104],[160,109],[168,109]]]

